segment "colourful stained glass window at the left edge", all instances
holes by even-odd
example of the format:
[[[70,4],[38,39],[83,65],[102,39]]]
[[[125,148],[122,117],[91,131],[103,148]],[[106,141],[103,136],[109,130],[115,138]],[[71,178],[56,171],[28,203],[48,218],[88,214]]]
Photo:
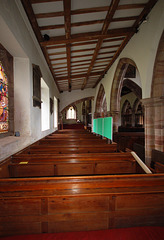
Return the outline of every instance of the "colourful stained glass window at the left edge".
[[[8,79],[0,62],[0,133],[8,129]]]

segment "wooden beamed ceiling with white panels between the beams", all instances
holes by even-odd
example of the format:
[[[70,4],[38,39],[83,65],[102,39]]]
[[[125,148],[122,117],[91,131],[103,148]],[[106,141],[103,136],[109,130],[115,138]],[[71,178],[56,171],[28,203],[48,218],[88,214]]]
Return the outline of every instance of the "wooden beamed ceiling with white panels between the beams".
[[[158,0],[21,1],[63,92],[96,87]]]

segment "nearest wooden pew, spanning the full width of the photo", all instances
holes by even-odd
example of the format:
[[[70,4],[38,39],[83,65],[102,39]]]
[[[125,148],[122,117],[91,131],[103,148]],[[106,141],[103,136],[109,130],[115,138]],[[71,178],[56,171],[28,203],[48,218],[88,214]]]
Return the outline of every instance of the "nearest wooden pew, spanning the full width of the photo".
[[[0,180],[0,236],[163,225],[163,174]]]

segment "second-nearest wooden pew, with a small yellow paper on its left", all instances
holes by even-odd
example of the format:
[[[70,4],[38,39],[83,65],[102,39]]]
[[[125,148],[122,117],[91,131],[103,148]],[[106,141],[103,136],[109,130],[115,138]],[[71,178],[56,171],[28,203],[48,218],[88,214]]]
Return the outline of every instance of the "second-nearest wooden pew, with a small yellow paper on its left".
[[[77,176],[97,174],[132,174],[138,173],[138,163],[133,156],[118,155],[95,158],[35,158],[9,165],[10,177],[36,176]],[[18,161],[18,159],[17,159]]]

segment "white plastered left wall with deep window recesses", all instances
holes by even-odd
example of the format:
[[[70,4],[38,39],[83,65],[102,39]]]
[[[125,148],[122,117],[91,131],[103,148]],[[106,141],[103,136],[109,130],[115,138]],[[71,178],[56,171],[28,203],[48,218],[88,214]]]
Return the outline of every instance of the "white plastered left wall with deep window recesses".
[[[50,129],[41,131],[41,110],[32,100],[32,64],[40,67],[50,97],[59,98],[59,92],[20,0],[0,0],[0,29],[0,43],[14,58],[14,129],[20,132],[20,137],[0,138],[1,161],[56,130],[52,114]]]

